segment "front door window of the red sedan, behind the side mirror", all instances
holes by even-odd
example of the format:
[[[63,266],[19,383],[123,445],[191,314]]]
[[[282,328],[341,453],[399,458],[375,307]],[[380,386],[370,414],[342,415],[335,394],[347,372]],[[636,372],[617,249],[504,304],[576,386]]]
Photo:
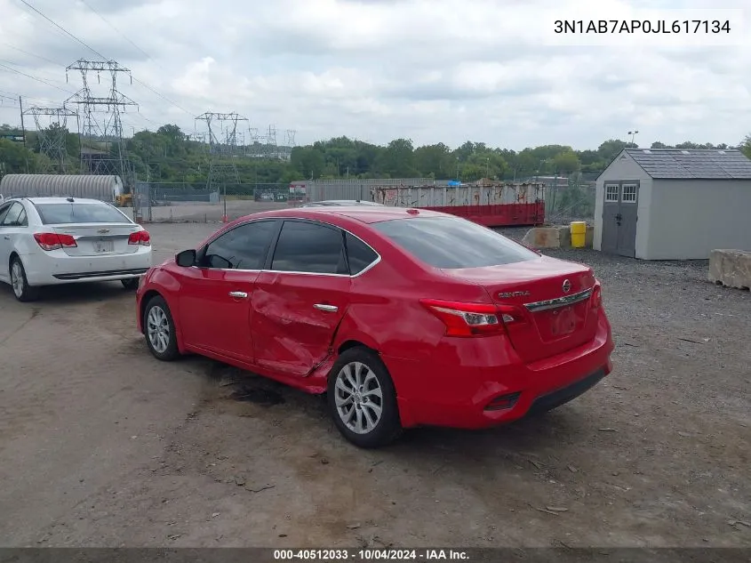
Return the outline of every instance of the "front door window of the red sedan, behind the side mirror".
[[[219,269],[261,269],[276,221],[254,221],[229,230],[208,246],[201,266]]]

